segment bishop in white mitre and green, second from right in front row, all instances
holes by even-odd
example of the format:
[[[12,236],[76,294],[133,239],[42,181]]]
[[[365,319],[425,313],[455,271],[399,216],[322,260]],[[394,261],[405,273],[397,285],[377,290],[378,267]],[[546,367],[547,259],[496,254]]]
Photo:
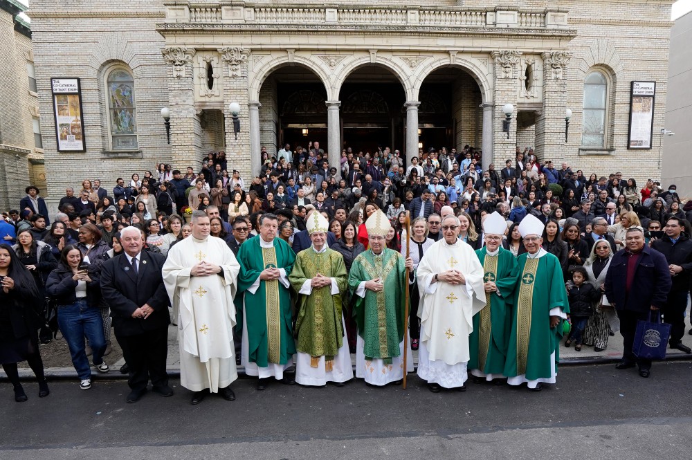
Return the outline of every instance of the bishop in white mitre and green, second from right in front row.
[[[483,221],[485,243],[476,255],[483,266],[486,306],[473,315],[473,332],[469,337],[471,359],[468,368],[475,383],[504,378],[504,362],[511,331],[511,307],[519,266],[514,255],[502,248],[507,222],[498,212]]]

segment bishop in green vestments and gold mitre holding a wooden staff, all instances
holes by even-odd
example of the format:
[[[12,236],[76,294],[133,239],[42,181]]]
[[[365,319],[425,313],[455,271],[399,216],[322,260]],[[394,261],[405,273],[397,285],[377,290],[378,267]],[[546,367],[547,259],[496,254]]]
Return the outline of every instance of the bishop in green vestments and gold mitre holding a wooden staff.
[[[356,377],[370,385],[383,386],[403,378],[403,318],[406,267],[413,261],[386,248],[385,236],[391,228],[387,216],[377,210],[365,222],[370,248],[354,259],[349,288],[354,291]],[[407,371],[413,371],[408,347]]]

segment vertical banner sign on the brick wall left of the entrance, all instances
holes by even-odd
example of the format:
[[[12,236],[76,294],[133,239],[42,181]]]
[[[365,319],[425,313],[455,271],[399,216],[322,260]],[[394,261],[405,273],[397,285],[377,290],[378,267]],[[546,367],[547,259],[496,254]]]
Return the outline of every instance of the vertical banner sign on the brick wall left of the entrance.
[[[86,151],[79,78],[51,78],[57,151]]]

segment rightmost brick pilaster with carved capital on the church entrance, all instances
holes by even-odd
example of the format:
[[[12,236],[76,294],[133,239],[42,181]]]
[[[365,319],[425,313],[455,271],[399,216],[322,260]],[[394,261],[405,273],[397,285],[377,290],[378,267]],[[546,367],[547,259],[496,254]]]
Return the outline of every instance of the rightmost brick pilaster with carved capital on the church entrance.
[[[567,106],[568,51],[543,53],[543,110],[536,120],[536,156],[560,161],[565,158],[565,107]],[[574,136],[574,134],[572,134]],[[576,154],[576,152],[575,152]]]

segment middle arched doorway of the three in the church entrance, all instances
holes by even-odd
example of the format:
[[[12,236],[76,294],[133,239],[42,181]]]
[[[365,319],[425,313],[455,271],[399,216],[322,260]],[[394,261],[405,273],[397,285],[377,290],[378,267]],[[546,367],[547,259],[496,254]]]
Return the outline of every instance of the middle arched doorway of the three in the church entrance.
[[[397,75],[382,66],[363,66],[340,88],[343,149],[374,152],[403,149],[406,93]]]

